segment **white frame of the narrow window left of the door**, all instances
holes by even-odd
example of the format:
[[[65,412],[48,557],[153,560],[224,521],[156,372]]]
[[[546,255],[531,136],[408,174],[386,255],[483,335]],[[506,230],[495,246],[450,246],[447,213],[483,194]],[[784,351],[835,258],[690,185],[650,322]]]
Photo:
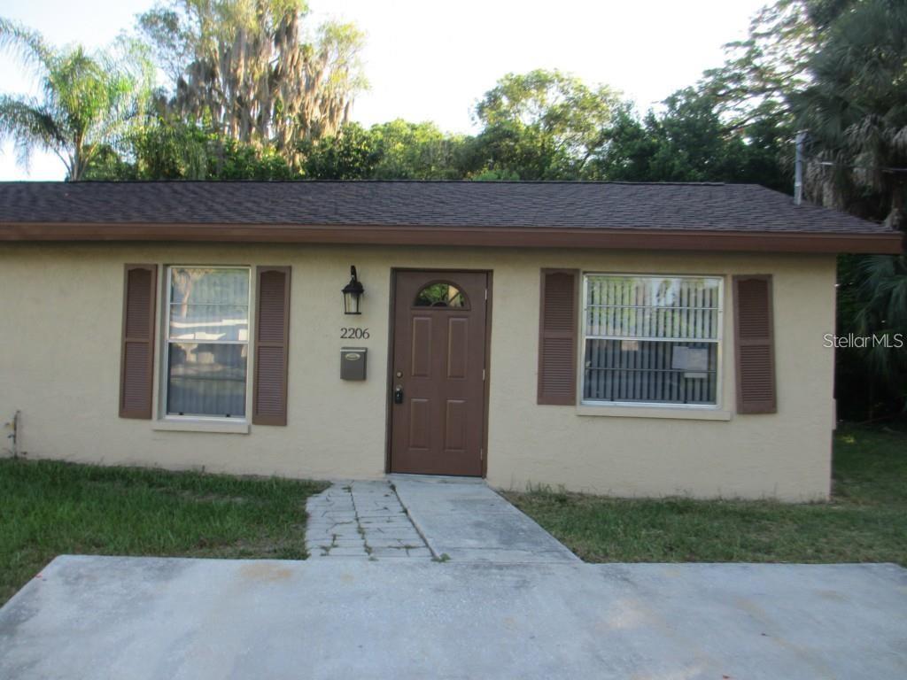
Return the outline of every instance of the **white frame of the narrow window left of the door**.
[[[249,390],[251,389],[251,375],[252,375],[252,267],[244,265],[167,265],[164,267],[166,271],[166,277],[164,277],[164,291],[163,299],[164,305],[162,305],[162,318],[161,325],[163,326],[163,361],[161,361],[161,371],[159,374],[160,385],[161,385],[161,420],[168,421],[172,423],[185,423],[185,422],[203,422],[203,423],[236,423],[236,424],[248,424],[249,423]],[[227,418],[222,415],[180,415],[179,413],[167,413],[167,403],[168,403],[168,391],[170,390],[170,316],[171,316],[171,305],[173,301],[171,299],[172,295],[172,271],[173,269],[239,269],[245,271],[249,277],[249,299],[246,301],[246,307],[249,310],[249,318],[247,319],[247,330],[248,330],[248,339],[243,342],[241,340],[205,340],[203,343],[201,341],[194,341],[199,344],[204,345],[247,345],[248,349],[246,351],[246,392],[244,395],[245,401],[245,414],[241,418]],[[174,342],[186,343],[187,340],[175,340]]]

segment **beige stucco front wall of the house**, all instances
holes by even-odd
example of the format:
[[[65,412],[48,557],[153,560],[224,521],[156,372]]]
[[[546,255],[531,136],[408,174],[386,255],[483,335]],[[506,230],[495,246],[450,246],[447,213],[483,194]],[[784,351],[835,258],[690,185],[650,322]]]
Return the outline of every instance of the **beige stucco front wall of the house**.
[[[122,266],[293,267],[288,426],[167,432],[117,417]],[[350,324],[339,289],[355,264],[365,312]],[[618,495],[824,498],[829,490],[834,257],[690,253],[166,244],[0,245],[0,422],[22,412],[30,458],[204,468],[295,477],[385,471],[391,267],[493,271],[488,480]],[[712,417],[629,417],[535,403],[539,269],[731,275],[775,287],[778,413],[736,415],[733,304],[725,288],[721,401]],[[254,295],[253,295],[254,298]],[[160,309],[160,305],[159,305]],[[368,340],[340,339],[346,325]],[[339,379],[339,348],[369,350],[368,379]],[[251,367],[250,367],[251,370]],[[619,413],[587,415],[581,413]]]

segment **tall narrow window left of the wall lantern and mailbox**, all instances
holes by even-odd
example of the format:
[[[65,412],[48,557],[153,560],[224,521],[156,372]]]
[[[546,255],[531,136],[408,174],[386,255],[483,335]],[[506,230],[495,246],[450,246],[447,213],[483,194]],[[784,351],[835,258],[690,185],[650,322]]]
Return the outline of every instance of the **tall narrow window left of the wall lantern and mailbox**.
[[[167,415],[244,418],[249,269],[170,267]]]

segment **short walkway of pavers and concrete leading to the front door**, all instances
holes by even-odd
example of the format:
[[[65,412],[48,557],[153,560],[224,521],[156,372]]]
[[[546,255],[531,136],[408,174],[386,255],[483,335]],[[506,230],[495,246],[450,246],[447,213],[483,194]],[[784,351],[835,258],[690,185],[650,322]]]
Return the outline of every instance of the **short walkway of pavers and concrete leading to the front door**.
[[[306,510],[314,559],[579,561],[482,480],[391,475],[338,482],[310,498]]]

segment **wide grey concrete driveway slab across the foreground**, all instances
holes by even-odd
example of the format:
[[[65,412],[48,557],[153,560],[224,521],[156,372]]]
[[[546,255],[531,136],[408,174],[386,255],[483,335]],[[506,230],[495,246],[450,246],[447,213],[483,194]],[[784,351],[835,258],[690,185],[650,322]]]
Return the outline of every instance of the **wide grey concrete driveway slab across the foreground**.
[[[900,678],[907,570],[61,557],[0,677]]]

